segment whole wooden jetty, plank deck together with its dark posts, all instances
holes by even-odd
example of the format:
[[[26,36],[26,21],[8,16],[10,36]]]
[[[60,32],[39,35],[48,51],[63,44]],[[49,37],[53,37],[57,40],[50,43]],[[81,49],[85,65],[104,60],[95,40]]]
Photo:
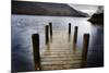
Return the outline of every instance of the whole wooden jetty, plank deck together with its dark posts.
[[[66,70],[66,69],[84,68],[86,65],[89,35],[86,34],[84,36],[83,51],[82,51],[76,47],[75,44],[77,38],[77,31],[76,31],[77,26],[75,27],[74,37],[73,35],[71,35],[71,29],[69,29],[69,32],[52,31],[51,26],[52,24],[50,23],[51,34],[47,33],[48,26],[46,26],[47,32],[45,38],[47,39],[45,44],[45,51],[40,54],[37,53],[34,54],[34,59],[38,59],[35,62],[35,70]],[[71,28],[71,24],[69,28]],[[39,53],[39,50],[34,52]],[[35,56],[38,57],[36,58]]]

